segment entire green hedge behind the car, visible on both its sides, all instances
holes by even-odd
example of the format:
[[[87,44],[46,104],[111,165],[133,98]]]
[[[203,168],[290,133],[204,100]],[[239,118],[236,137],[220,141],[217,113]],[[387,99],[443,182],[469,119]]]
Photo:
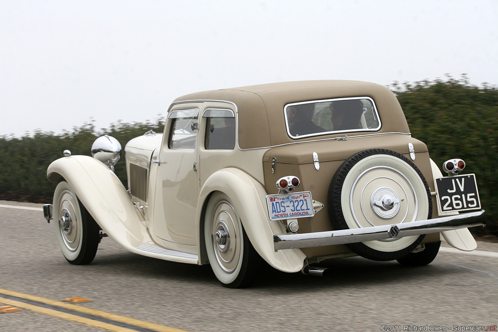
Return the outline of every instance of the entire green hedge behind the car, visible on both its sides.
[[[450,158],[466,161],[466,172],[476,173],[483,209],[491,226],[498,230],[498,91],[496,87],[471,86],[465,76],[460,80],[395,83],[396,94],[405,112],[412,136],[424,141],[431,158],[442,165]],[[162,132],[164,119],[154,122],[116,122],[97,132],[93,123],[75,127],[71,132],[54,134],[37,130],[21,138],[0,136],[0,200],[35,203],[52,201],[55,184],[46,178],[47,166],[62,156],[90,155],[93,141],[108,134],[124,148],[131,138],[152,129]],[[126,185],[124,162],[116,174]]]

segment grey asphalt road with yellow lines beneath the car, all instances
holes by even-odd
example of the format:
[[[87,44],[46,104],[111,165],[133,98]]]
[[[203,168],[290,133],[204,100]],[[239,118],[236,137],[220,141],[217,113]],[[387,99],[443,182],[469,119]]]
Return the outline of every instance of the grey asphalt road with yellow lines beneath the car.
[[[433,263],[417,268],[342,258],[331,265],[330,277],[267,269],[252,288],[233,290],[220,286],[209,266],[139,256],[109,238],[90,265],[71,265],[41,205],[0,201],[0,307],[25,305],[29,296],[55,300],[52,309],[66,298],[89,298],[70,306],[191,332],[496,329],[498,243],[480,241],[477,250],[445,246]],[[33,303],[31,308],[41,306]],[[43,310],[19,309],[0,313],[1,332],[103,331]],[[132,326],[116,331],[161,331]]]

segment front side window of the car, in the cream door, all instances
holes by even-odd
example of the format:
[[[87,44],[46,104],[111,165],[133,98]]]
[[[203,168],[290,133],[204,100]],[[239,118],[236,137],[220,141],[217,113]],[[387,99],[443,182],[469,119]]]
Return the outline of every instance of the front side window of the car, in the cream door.
[[[195,149],[199,109],[172,111],[168,147],[170,149]]]

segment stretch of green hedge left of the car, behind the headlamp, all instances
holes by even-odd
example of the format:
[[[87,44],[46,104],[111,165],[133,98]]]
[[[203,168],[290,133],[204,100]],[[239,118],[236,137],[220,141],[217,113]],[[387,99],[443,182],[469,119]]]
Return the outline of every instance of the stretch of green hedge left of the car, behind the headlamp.
[[[56,184],[47,180],[47,167],[62,157],[64,150],[91,156],[93,142],[104,134],[118,139],[124,149],[130,139],[151,129],[162,132],[163,128],[164,120],[157,119],[153,123],[118,121],[99,132],[93,123],[85,123],[62,134],[37,130],[21,138],[0,136],[0,200],[50,203]],[[123,161],[116,165],[116,174],[127,187]]]

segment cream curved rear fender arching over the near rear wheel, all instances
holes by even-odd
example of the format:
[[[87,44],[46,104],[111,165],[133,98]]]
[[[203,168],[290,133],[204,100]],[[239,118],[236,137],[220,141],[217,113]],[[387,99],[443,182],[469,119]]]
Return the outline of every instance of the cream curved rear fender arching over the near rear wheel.
[[[297,272],[303,268],[306,255],[300,249],[275,252],[273,248],[273,234],[281,234],[285,229],[280,222],[269,220],[263,186],[244,171],[232,167],[213,173],[201,189],[197,205],[199,248],[205,247],[205,206],[210,195],[216,191],[223,192],[230,198],[252,246],[268,264],[284,272]]]

